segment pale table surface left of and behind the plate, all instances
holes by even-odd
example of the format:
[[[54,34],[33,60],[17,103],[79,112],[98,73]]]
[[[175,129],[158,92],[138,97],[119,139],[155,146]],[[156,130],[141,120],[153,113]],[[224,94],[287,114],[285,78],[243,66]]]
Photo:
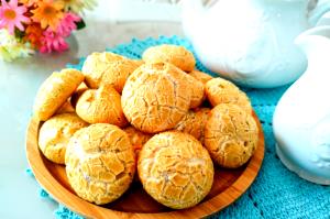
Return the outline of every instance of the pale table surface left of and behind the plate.
[[[38,185],[25,174],[25,129],[34,96],[41,83],[55,69],[78,57],[105,51],[132,37],[183,35],[177,23],[113,23],[107,10],[98,9],[86,18],[87,29],[75,34],[73,50],[62,55],[38,56],[15,63],[0,61],[0,218],[54,218],[57,204],[38,196]]]

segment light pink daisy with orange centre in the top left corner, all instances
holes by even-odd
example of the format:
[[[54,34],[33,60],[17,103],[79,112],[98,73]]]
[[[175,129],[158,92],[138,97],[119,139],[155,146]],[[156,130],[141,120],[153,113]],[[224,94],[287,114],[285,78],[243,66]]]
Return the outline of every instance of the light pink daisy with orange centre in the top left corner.
[[[7,28],[10,34],[14,33],[15,26],[20,31],[24,31],[22,22],[30,22],[30,19],[23,15],[25,12],[26,8],[24,6],[19,7],[18,0],[11,0],[10,2],[1,0],[0,29]]]

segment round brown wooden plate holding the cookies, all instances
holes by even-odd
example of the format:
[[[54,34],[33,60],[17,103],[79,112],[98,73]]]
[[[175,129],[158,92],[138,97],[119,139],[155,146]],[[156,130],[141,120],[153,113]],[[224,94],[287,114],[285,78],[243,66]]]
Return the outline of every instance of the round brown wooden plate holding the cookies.
[[[210,194],[197,206],[185,210],[173,210],[153,200],[140,183],[117,201],[97,206],[80,199],[68,184],[65,167],[50,162],[37,146],[41,122],[32,119],[26,133],[26,155],[36,180],[53,198],[70,210],[88,218],[201,218],[220,211],[237,200],[255,179],[264,157],[264,135],[260,128],[258,145],[252,158],[238,169],[223,169],[216,166],[215,183]]]

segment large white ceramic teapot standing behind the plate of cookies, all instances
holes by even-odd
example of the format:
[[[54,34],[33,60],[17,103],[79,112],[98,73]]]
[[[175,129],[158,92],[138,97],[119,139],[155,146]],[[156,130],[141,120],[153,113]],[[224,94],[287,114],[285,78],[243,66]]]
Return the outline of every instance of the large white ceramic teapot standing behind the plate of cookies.
[[[309,0],[201,0],[183,4],[183,26],[201,63],[237,84],[270,88],[295,81],[307,61],[294,44],[304,31],[330,11]],[[330,23],[329,19],[322,24]]]

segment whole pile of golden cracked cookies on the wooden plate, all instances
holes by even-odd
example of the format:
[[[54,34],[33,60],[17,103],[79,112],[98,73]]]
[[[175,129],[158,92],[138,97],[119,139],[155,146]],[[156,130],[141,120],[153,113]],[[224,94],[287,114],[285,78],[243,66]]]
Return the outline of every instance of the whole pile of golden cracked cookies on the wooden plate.
[[[53,73],[34,103],[40,150],[90,202],[118,199],[138,169],[158,202],[197,205],[211,189],[213,162],[244,165],[258,130],[246,95],[195,64],[185,47],[160,45],[142,61],[92,53],[81,72]]]

